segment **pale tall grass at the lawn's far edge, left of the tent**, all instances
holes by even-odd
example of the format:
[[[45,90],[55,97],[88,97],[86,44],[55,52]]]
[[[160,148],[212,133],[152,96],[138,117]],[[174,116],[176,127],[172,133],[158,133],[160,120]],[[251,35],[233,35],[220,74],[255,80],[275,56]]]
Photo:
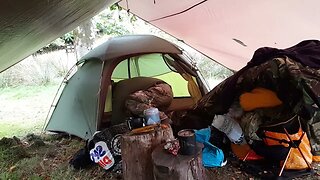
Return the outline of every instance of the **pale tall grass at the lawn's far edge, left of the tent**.
[[[29,56],[0,73],[0,88],[60,83],[75,62],[75,55],[65,51]]]

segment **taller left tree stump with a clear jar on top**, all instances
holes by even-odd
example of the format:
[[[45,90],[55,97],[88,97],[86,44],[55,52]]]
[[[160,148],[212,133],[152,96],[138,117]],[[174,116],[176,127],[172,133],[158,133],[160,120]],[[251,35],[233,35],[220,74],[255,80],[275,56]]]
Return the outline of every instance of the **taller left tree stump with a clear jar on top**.
[[[137,130],[133,132],[126,133],[121,138],[123,178],[151,180],[153,179],[151,153],[158,145],[174,138],[172,129],[169,125],[161,125],[153,126],[150,132],[139,133]]]

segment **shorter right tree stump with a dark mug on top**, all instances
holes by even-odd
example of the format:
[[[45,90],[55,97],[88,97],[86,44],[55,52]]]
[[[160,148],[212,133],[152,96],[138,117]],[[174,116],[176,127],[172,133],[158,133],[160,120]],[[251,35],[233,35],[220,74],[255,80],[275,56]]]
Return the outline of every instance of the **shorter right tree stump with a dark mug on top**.
[[[195,155],[174,156],[158,146],[152,152],[153,173],[155,180],[204,180],[205,169],[202,166],[202,147],[197,143]]]

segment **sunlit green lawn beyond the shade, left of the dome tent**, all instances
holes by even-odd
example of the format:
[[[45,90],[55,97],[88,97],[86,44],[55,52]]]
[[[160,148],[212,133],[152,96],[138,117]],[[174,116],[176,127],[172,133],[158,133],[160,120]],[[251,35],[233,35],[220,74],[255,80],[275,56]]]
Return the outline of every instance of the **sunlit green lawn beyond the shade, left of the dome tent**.
[[[58,85],[0,89],[0,138],[40,133]]]

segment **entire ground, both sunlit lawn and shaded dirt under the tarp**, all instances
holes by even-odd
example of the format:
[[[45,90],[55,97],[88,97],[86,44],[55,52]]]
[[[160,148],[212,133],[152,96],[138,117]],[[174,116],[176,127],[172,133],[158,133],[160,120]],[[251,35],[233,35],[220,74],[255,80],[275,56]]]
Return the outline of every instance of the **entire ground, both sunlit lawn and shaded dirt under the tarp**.
[[[122,179],[97,165],[72,168],[69,161],[85,142],[68,135],[41,133],[57,89],[58,85],[0,89],[0,179]],[[317,163],[313,166],[316,172],[320,169]],[[244,163],[231,156],[226,166],[206,172],[209,179],[260,179],[244,168]],[[320,176],[316,173],[299,179]]]

